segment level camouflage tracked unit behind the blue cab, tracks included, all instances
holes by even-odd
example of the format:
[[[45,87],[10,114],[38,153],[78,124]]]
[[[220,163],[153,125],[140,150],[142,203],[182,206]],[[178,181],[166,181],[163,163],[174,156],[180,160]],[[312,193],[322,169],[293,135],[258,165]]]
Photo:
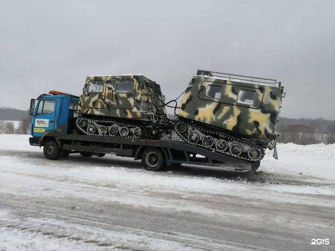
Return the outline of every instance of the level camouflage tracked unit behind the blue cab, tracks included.
[[[141,74],[89,76],[77,128],[86,135],[159,139],[169,127],[160,86]]]

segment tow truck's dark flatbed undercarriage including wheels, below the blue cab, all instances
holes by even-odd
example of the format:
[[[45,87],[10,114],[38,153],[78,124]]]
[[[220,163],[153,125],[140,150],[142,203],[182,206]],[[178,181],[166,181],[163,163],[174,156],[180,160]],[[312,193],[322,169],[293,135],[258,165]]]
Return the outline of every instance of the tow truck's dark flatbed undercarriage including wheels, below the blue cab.
[[[52,142],[55,143],[52,144]],[[258,163],[249,163],[198,146],[172,140],[148,140],[108,136],[87,136],[47,131],[41,138],[29,138],[32,146],[44,146],[44,155],[56,160],[72,153],[83,156],[113,154],[142,160],[148,170],[158,171],[165,164],[192,164],[257,170]],[[49,151],[48,151],[49,150]],[[86,153],[86,154],[85,154]]]

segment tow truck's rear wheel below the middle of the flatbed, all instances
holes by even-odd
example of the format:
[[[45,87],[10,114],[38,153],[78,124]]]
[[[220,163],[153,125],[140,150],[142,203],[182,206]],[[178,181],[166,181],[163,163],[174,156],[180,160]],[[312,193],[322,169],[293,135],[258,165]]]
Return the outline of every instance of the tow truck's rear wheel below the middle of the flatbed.
[[[163,153],[157,148],[147,148],[141,156],[142,165],[150,171],[157,172],[165,165]]]

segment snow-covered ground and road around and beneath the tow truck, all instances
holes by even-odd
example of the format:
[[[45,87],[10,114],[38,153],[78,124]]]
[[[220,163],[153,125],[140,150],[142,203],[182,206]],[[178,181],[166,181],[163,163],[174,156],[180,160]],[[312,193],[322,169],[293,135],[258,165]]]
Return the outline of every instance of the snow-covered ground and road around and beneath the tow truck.
[[[335,249],[335,145],[279,144],[255,174],[44,158],[0,135],[0,250]]]

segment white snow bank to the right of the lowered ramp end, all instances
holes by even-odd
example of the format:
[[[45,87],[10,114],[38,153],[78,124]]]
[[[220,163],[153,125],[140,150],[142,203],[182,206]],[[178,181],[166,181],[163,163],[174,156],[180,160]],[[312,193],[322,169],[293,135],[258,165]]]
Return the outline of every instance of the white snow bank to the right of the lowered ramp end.
[[[260,170],[335,180],[335,144],[277,144],[278,160],[267,150]]]

